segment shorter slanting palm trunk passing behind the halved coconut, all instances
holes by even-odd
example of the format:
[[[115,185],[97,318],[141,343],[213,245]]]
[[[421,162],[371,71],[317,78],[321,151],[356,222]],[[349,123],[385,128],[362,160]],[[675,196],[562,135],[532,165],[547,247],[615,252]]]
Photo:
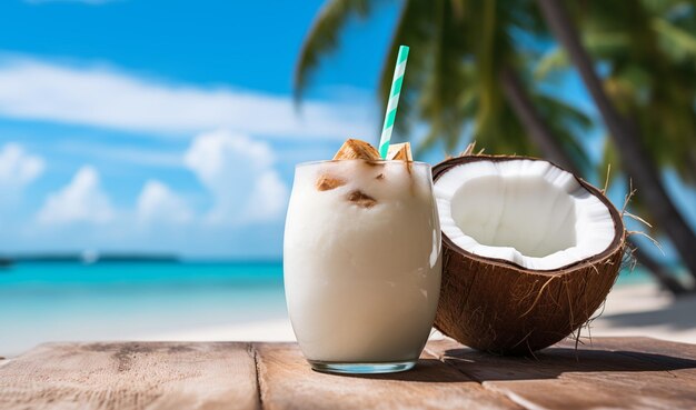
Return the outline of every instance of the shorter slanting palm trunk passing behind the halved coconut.
[[[519,78],[509,67],[503,68],[500,82],[505,97],[513,108],[513,111],[527,130],[527,134],[531,141],[541,151],[544,158],[551,160],[556,164],[576,174],[580,174],[577,172],[577,166],[573,162],[558,142],[558,139],[554,136],[551,130],[548,129],[537,112]],[[640,251],[634,241],[630,239],[628,239],[628,241],[635,249],[633,254],[638,263],[643,264],[663,288],[669,290],[675,296],[688,293],[688,290],[678,280],[672,277],[662,263],[654,260],[649,254]]]

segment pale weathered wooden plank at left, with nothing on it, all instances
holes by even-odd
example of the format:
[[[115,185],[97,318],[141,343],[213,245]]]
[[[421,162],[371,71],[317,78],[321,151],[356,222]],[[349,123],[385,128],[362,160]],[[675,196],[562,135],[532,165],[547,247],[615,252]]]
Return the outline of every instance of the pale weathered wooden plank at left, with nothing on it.
[[[51,343],[0,367],[1,409],[258,409],[249,343]]]

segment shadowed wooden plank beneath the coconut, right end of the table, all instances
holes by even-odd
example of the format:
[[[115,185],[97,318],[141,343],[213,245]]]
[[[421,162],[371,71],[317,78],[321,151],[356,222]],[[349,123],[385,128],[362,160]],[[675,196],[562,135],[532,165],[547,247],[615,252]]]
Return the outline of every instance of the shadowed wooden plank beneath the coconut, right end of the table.
[[[601,339],[596,339],[599,341]],[[609,341],[607,341],[609,342]],[[535,358],[496,357],[451,340],[428,351],[491,391],[530,409],[695,409],[693,358],[605,348],[553,347]],[[607,344],[607,346],[609,346]]]

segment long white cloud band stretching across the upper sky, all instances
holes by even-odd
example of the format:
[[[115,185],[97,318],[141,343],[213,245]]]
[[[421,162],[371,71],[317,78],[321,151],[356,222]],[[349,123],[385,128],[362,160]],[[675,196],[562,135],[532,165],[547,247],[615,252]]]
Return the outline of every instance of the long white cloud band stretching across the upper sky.
[[[103,66],[73,67],[0,54],[0,117],[156,134],[225,128],[247,134],[328,138],[375,133],[371,104],[306,102],[287,96],[170,84]]]

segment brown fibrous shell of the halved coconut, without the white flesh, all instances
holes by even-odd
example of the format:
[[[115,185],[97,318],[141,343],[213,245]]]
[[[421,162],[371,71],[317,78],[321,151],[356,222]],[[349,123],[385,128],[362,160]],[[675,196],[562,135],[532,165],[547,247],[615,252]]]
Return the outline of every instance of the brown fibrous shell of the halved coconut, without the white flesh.
[[[434,180],[461,163],[513,159],[537,160],[453,158],[434,168]],[[625,230],[619,212],[601,191],[576,179],[609,209],[616,230],[612,244],[599,254],[556,270],[531,270],[470,253],[443,234],[443,284],[435,318],[438,330],[474,349],[528,354],[563,340],[590,319],[618,276]]]

